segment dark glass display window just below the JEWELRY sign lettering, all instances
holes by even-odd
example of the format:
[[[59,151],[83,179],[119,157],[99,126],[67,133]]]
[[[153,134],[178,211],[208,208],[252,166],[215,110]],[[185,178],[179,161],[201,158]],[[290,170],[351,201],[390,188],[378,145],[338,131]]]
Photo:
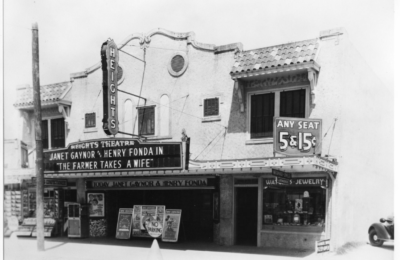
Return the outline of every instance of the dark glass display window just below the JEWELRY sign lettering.
[[[263,225],[322,228],[325,226],[325,205],[326,190],[322,187],[266,185]]]

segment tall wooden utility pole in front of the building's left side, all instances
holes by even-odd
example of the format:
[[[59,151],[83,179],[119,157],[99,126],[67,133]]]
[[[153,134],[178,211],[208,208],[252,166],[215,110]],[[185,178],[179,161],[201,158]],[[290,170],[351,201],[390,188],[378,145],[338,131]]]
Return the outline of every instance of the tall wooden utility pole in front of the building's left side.
[[[42,143],[42,111],[40,102],[39,76],[39,28],[32,24],[32,78],[33,78],[33,108],[35,116],[36,140],[36,229],[37,249],[44,251],[44,214],[43,214],[43,143]]]

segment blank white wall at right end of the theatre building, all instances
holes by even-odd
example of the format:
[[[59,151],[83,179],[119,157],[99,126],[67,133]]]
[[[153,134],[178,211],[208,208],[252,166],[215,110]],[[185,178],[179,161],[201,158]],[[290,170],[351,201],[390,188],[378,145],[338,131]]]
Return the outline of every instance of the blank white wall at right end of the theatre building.
[[[320,42],[321,71],[310,116],[323,118],[323,134],[328,133],[323,155],[339,163],[332,197],[335,247],[366,241],[369,226],[393,212],[394,199],[392,90],[341,31],[338,41],[331,37]]]

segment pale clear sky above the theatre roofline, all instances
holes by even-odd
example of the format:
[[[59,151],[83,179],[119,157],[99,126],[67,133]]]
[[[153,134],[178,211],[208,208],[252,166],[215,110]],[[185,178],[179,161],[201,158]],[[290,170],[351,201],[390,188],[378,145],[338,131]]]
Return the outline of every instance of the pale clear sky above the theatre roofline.
[[[17,138],[16,86],[32,86],[32,23],[39,27],[41,85],[100,61],[108,38],[118,44],[133,33],[161,27],[196,34],[202,43],[241,42],[244,50],[316,38],[344,27],[382,86],[393,91],[392,0],[156,1],[4,0],[4,138]]]

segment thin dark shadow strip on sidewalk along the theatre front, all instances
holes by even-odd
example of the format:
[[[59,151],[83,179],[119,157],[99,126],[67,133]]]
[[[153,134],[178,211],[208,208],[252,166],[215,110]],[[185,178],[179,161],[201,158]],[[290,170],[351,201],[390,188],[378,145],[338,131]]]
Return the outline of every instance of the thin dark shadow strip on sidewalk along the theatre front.
[[[19,237],[21,240],[36,240],[32,237]],[[106,246],[124,246],[124,247],[139,247],[150,248],[153,239],[149,238],[131,238],[129,240],[120,240],[112,237],[106,238],[67,238],[55,237],[46,238],[46,242],[60,242],[61,244],[50,247],[46,250],[51,250],[61,247],[67,243],[78,244],[92,244],[92,245],[106,245]],[[282,249],[282,248],[262,248],[256,246],[220,246],[212,242],[197,242],[197,241],[178,241],[177,243],[162,242],[158,239],[158,244],[161,249],[166,250],[181,250],[181,251],[208,251],[208,252],[223,252],[223,253],[243,253],[243,254],[259,254],[270,256],[287,256],[287,257],[307,257],[315,252],[312,250],[296,250],[296,249]]]

